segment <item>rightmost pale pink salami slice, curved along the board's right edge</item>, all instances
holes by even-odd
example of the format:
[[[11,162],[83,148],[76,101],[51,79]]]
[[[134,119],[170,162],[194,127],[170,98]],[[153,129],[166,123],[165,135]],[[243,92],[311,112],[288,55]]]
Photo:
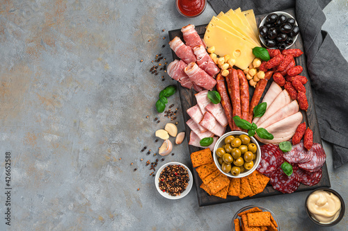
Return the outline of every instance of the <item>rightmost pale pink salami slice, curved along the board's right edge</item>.
[[[312,159],[308,162],[299,164],[301,169],[314,172],[318,171],[325,163],[326,154],[321,144],[313,144],[312,148],[308,151],[310,155],[313,155]],[[312,154],[313,153],[313,154]]]

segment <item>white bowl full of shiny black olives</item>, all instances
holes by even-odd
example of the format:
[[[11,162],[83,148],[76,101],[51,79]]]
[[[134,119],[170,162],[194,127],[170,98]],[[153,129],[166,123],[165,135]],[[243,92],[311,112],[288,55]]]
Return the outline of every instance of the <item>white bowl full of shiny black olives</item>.
[[[299,25],[287,12],[271,12],[259,26],[260,41],[269,49],[288,49],[298,36]]]

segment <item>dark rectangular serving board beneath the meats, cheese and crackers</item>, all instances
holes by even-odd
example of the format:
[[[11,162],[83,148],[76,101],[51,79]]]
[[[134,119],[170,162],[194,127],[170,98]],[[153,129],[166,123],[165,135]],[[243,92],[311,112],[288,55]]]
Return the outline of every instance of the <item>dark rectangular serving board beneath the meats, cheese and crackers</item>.
[[[227,10],[229,10],[229,9],[226,9],[226,11]],[[287,9],[284,11],[289,13],[292,16],[295,16],[294,9]],[[261,20],[264,18],[265,15],[267,15],[267,14],[256,15],[255,16],[256,22],[258,24],[260,24]],[[186,25],[180,25],[180,26],[186,26]],[[198,32],[200,37],[204,36],[206,26],[207,26],[207,24],[196,26],[196,31]],[[168,31],[168,34],[169,34],[170,40],[173,40],[173,38],[175,36],[180,37],[183,40],[182,32],[180,31],[180,29]],[[299,37],[297,38],[296,42],[291,46],[291,48],[298,48],[298,49],[301,49],[302,51],[304,50],[301,34],[299,34]],[[178,59],[174,52],[173,52],[173,59],[174,60]],[[306,55],[303,54],[300,57],[295,58],[295,60],[296,60],[296,65],[301,65],[303,67],[303,72],[301,73],[301,75],[306,76],[308,78],[308,71],[307,71],[307,67],[306,67]],[[267,89],[269,88],[269,85],[271,85],[272,81],[273,81],[273,79],[269,80],[269,83],[267,84],[267,87],[264,91],[264,94],[267,92]],[[180,101],[181,101],[182,112],[183,112],[182,114],[184,116],[184,121],[186,122],[190,119],[189,115],[186,112],[187,109],[191,108],[193,105],[196,105],[196,98],[194,96],[194,94],[196,94],[196,92],[193,89],[187,89],[187,88],[182,87],[180,85],[180,83],[177,83],[177,87],[178,87],[178,91],[180,94]],[[308,78],[308,83],[306,83],[305,87],[306,87],[306,95],[307,95],[309,107],[308,107],[307,112],[302,111],[303,121],[306,121],[307,126],[309,126],[313,130],[313,142],[322,144],[322,139],[321,139],[320,133],[319,133],[319,127],[318,127],[318,123],[317,123],[317,115],[315,113],[315,105],[313,102],[312,89],[310,88],[309,78]],[[254,88],[249,86],[249,92],[250,92],[251,96],[253,95],[253,91],[254,91]],[[262,99],[263,99],[264,94],[262,95]],[[262,99],[260,101],[262,101]],[[189,142],[189,134],[191,132],[191,129],[186,124],[185,124],[185,129],[186,129],[186,134],[187,134],[187,142]],[[228,131],[230,131],[230,128],[228,128],[228,130],[226,130],[226,132],[228,132]],[[189,145],[190,153],[193,153],[193,152],[198,151],[200,149],[201,148],[197,148],[195,146]],[[191,168],[193,169],[192,165],[191,165]],[[237,196],[228,196],[226,199],[219,198],[216,196],[209,196],[203,189],[200,189],[200,185],[202,184],[202,180],[200,180],[196,170],[193,170],[192,173],[193,173],[194,183],[196,186],[199,206],[215,205],[215,204],[219,204],[219,203],[228,203],[228,202],[237,201],[237,200],[248,200],[250,198],[262,198],[265,196],[276,196],[276,195],[282,194],[280,191],[276,191],[275,189],[273,189],[273,187],[271,185],[267,185],[266,189],[264,189],[264,191],[261,194],[257,194],[253,197],[246,197],[243,199],[239,199]],[[322,180],[320,180],[320,182],[317,185],[310,187],[310,186],[306,186],[306,185],[301,184],[299,189],[297,189],[295,192],[310,191],[313,189],[317,189],[319,187],[331,187],[329,173],[327,171],[326,163],[322,167]]]

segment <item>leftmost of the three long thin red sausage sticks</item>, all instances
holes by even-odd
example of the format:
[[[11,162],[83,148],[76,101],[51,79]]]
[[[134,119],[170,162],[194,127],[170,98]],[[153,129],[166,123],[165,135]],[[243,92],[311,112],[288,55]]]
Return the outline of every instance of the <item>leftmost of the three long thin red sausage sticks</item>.
[[[223,76],[221,76],[220,73],[216,76],[216,89],[221,96],[221,105],[228,119],[228,125],[230,126],[232,130],[233,128],[232,105],[230,102],[230,97],[228,97],[228,93],[226,90],[225,79],[223,78]]]

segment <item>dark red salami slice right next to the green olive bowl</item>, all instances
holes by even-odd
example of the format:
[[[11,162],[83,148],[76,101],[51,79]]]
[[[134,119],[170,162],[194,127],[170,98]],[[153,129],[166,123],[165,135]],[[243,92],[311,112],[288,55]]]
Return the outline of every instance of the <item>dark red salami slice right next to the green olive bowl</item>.
[[[275,144],[264,144],[260,148],[261,161],[258,171],[266,176],[271,176],[271,173],[283,163],[283,151]]]

